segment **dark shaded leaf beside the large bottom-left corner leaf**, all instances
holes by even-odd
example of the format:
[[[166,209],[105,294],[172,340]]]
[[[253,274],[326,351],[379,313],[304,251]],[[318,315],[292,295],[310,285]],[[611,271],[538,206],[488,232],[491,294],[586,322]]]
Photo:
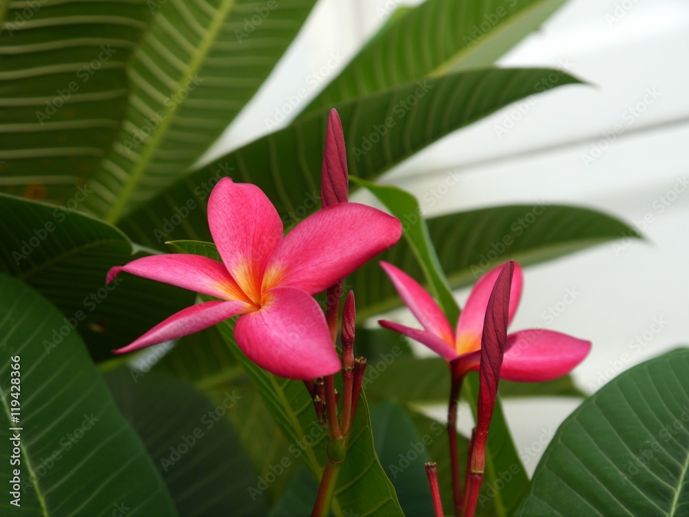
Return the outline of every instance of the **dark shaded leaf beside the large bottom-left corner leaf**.
[[[119,408],[141,437],[184,516],[265,515],[265,495],[247,487],[256,472],[227,414],[251,403],[227,390],[213,403],[187,383],[156,372],[132,379],[121,368],[105,379]]]

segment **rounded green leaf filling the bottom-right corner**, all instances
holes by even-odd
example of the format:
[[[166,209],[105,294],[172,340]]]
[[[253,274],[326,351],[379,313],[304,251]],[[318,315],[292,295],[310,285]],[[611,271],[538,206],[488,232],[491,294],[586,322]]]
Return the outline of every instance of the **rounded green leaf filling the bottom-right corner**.
[[[686,514],[689,350],[620,374],[560,425],[517,516]]]

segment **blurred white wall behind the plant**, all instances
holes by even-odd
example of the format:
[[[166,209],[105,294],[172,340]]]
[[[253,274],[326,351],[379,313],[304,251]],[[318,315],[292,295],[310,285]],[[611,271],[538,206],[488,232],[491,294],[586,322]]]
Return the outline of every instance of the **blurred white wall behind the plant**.
[[[333,55],[343,58],[333,74],[339,70],[384,21],[384,4],[320,1],[269,84],[209,157],[269,132],[266,120],[285,96],[300,88],[316,94],[325,81],[311,87],[311,74]],[[566,67],[591,85],[539,96],[511,129],[498,135],[497,125],[519,116],[508,107],[382,178],[422,196],[447,171],[462,171],[462,180],[429,210],[431,215],[539,199],[593,207],[629,223],[650,214],[645,242],[599,246],[526,270],[522,305],[511,329],[543,325],[593,341],[590,356],[574,372],[588,392],[599,381],[689,341],[688,50],[685,1],[571,0],[500,65]],[[585,165],[582,155],[590,154],[617,124],[624,131]],[[677,196],[670,193],[675,188],[681,191]],[[668,193],[674,201],[664,206],[661,196]],[[579,295],[548,325],[544,310],[562,308],[557,302],[568,289]],[[458,295],[466,298],[464,292]],[[662,324],[653,326],[654,320]],[[640,347],[631,345],[637,336]],[[517,447],[543,439],[544,430],[557,428],[577,403],[508,401]],[[464,427],[471,427],[466,418]]]

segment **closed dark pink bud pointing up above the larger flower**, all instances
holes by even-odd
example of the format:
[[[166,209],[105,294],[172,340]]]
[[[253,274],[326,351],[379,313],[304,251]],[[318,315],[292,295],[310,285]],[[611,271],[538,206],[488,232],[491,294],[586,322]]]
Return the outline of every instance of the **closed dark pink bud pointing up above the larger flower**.
[[[347,202],[349,176],[342,123],[335,108],[330,110],[325,131],[325,153],[321,167],[320,198],[323,208]]]

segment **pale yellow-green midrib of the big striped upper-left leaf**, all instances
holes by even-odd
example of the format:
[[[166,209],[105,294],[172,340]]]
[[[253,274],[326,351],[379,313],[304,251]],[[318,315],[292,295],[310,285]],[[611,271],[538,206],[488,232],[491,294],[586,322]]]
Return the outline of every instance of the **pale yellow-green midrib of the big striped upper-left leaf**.
[[[223,24],[225,23],[229,12],[234,7],[234,2],[235,0],[223,0],[221,8],[213,18],[213,22],[198,46],[198,52],[196,52],[194,59],[192,59],[192,61],[189,63],[187,70],[180,74],[179,81],[177,82],[174,90],[175,92],[178,92],[182,88],[183,82],[187,80],[189,75],[194,76],[203,66],[205,58],[211,51],[218,33],[223,28]],[[165,116],[165,118],[161,120],[161,123],[158,124],[158,127],[154,129],[143,154],[141,154],[141,158],[136,162],[134,170],[132,170],[130,173],[129,180],[123,185],[123,189],[117,198],[117,201],[110,208],[110,211],[107,213],[107,215],[105,215],[105,220],[107,222],[116,222],[123,215],[123,211],[127,207],[130,197],[134,193],[134,189],[136,189],[139,182],[141,182],[148,165],[153,159],[155,152],[158,150],[158,143],[160,143],[160,141],[164,138],[166,129],[172,120],[174,120],[176,112],[179,112],[178,106],[174,106],[172,109],[167,105],[165,106],[165,113],[167,116]]]

